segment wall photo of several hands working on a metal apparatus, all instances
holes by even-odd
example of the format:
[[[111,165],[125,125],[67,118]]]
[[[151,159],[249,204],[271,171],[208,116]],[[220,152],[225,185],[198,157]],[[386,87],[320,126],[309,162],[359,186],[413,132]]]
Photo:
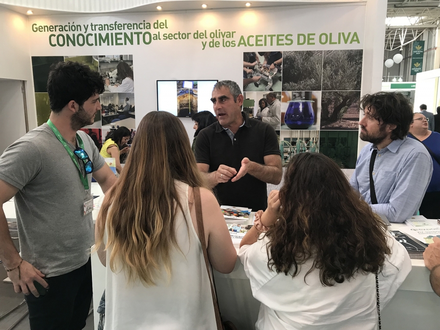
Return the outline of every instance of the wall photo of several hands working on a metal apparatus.
[[[283,52],[244,52],[243,90],[281,91]]]

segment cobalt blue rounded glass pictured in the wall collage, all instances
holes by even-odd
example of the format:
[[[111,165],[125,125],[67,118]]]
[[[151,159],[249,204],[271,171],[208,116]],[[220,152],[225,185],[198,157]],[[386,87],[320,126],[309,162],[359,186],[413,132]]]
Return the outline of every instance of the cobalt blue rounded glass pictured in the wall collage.
[[[315,123],[315,112],[312,102],[305,100],[289,101],[284,116],[284,123],[291,130],[307,130]]]

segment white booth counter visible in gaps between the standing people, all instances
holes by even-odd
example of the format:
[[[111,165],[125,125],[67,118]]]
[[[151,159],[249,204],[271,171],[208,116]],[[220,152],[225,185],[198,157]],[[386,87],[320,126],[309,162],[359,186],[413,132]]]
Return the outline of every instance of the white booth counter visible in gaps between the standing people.
[[[99,196],[95,199],[95,207],[99,207],[104,195],[97,183],[92,183],[92,192],[95,196]],[[13,201],[6,202],[3,210],[8,221],[15,221]],[[98,212],[98,209],[93,211],[94,220]],[[389,229],[398,230],[401,226],[406,225],[393,224]],[[93,312],[95,329],[97,329],[99,315],[96,313],[96,308],[105,289],[106,270],[94,252],[92,252],[91,261]],[[413,266],[411,272],[381,313],[384,329],[438,329],[440,298],[433,292],[429,283],[429,270],[425,267],[423,260],[412,259],[411,263]],[[252,296],[250,283],[240,260],[237,259],[234,270],[229,274],[214,271],[214,278],[222,317],[232,321],[240,330],[254,329],[260,302]]]

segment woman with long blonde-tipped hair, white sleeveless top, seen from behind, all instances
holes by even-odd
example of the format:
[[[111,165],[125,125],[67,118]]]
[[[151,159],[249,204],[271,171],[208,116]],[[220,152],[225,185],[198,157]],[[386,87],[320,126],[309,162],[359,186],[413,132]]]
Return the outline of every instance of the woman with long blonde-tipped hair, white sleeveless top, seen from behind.
[[[209,260],[229,273],[237,253],[182,123],[168,112],[148,113],[96,222],[96,246],[107,267],[106,330],[216,328],[194,187],[202,188]]]

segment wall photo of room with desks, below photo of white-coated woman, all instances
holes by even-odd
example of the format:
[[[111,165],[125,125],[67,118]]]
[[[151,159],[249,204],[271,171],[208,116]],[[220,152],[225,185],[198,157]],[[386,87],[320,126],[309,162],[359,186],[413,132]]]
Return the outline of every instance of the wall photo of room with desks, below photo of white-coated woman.
[[[125,126],[135,128],[134,93],[108,93],[100,96],[102,127]]]

